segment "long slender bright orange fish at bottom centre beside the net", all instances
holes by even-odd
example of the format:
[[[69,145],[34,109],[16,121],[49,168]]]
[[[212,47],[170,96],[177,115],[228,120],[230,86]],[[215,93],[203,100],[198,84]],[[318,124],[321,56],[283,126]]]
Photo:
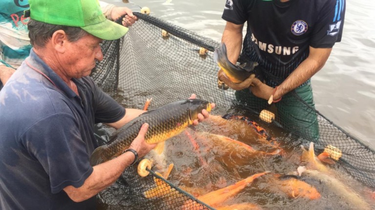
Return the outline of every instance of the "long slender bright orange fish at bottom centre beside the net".
[[[208,192],[205,195],[198,196],[197,199],[202,201],[203,203],[207,204],[208,206],[218,206],[221,205],[224,201],[228,200],[229,198],[235,196],[240,191],[242,191],[248,184],[252,183],[256,178],[269,173],[269,172],[262,172],[256,173],[252,176],[249,176],[246,179],[243,179],[239,182],[234,183],[233,185],[229,185],[228,187]],[[187,203],[183,206],[183,210],[200,210],[201,204]]]

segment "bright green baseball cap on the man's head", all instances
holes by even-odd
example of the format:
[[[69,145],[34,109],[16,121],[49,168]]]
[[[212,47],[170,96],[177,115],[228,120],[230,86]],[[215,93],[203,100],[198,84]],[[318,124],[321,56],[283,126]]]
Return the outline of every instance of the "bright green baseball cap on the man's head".
[[[98,0],[29,0],[29,4],[31,19],[80,27],[105,40],[122,38],[128,31],[125,26],[104,17]]]

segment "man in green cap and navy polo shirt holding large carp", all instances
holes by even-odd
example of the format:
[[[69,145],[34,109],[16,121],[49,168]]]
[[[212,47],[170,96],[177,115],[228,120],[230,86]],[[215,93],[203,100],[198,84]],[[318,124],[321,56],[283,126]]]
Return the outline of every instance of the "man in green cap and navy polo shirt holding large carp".
[[[97,0],[29,3],[33,48],[0,91],[0,206],[94,210],[95,195],[155,147],[144,140],[144,124],[132,150],[89,164],[98,147],[95,123],[118,129],[144,112],[124,109],[89,77],[103,59],[102,40],[121,38],[127,28],[105,19]]]

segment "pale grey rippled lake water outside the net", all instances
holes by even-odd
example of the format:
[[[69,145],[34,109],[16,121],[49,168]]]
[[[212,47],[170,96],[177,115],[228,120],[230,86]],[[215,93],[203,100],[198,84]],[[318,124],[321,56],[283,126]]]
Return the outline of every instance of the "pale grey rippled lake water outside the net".
[[[150,8],[154,17],[199,35],[221,40],[225,0],[104,0],[133,11]],[[124,0],[125,1],[125,0]],[[127,1],[126,1],[127,2]],[[312,77],[316,109],[375,148],[375,2],[347,0],[344,33],[326,65]]]

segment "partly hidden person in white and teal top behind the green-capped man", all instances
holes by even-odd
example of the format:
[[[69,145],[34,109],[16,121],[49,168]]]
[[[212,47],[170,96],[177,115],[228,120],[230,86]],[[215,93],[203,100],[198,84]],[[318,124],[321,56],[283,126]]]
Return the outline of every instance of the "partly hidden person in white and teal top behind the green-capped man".
[[[107,19],[115,20],[125,15],[122,23],[131,26],[138,19],[127,7],[99,1]],[[28,38],[24,10],[29,8],[28,0],[1,0],[0,7],[0,90],[22,61],[29,56],[31,44]]]

